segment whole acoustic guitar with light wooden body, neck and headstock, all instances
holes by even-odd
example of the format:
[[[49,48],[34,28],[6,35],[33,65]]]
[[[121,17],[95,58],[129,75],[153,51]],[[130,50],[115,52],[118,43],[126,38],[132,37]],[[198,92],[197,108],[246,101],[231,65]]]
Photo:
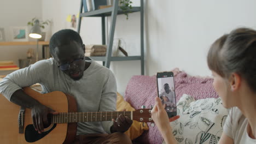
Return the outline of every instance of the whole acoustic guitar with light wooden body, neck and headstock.
[[[24,88],[24,92],[59,114],[48,115],[49,124],[44,126],[42,134],[38,134],[33,127],[31,109],[22,109],[0,94],[0,143],[72,143],[77,122],[112,121],[120,114],[138,122],[153,122],[151,109],[77,112],[76,101],[71,95],[58,91],[41,94],[29,87]]]

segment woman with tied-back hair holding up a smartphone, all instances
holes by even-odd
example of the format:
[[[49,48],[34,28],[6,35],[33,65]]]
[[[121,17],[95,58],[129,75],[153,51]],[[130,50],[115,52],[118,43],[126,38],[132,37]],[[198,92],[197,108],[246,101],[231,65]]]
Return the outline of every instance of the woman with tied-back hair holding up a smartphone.
[[[207,62],[214,89],[230,109],[218,143],[256,143],[256,31],[238,28],[223,35],[212,44]],[[177,143],[159,98],[152,118],[165,142]]]

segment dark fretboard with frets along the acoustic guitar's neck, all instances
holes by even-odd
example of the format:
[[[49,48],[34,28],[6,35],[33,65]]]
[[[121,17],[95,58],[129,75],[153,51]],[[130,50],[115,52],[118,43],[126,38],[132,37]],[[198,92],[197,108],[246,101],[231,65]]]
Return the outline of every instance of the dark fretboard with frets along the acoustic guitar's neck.
[[[132,111],[67,112],[53,116],[53,123],[112,121],[120,114],[132,119]]]

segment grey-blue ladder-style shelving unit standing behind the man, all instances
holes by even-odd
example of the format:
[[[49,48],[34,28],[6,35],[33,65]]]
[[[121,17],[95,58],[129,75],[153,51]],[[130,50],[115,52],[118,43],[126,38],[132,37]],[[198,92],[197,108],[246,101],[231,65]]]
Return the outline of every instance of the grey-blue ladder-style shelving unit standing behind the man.
[[[114,0],[113,7],[98,9],[94,11],[88,11],[83,13],[83,0],[81,0],[80,4],[80,15],[78,22],[78,33],[80,33],[81,28],[81,20],[82,17],[101,17],[101,26],[102,26],[102,44],[106,45],[106,24],[105,17],[111,16],[111,24],[110,31],[107,43],[107,53],[106,56],[103,57],[90,57],[95,61],[102,61],[103,65],[107,68],[110,66],[111,61],[141,61],[141,74],[144,75],[144,4],[143,0],[141,0],[141,7],[133,7],[130,12],[140,12],[141,13],[141,55],[140,56],[128,56],[128,57],[112,57],[112,48],[113,48],[113,40],[114,40],[114,31],[115,31],[115,23],[117,21],[117,15],[124,14],[123,10],[118,7],[118,1]]]

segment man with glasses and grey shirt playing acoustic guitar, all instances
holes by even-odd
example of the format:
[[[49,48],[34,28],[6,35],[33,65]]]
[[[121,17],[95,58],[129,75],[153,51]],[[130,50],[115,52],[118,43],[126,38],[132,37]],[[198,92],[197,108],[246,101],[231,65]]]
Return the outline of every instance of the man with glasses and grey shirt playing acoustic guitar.
[[[22,87],[35,83],[40,83],[43,93],[61,91],[73,95],[78,112],[115,111],[117,85],[114,74],[84,57],[85,45],[77,32],[71,29],[56,32],[49,46],[53,58],[16,70],[0,82],[0,93],[5,98],[31,109],[34,129],[38,133],[44,132],[47,115],[58,112],[22,91]],[[123,115],[112,121],[78,122],[74,143],[131,143],[123,134],[131,124],[132,120]]]

